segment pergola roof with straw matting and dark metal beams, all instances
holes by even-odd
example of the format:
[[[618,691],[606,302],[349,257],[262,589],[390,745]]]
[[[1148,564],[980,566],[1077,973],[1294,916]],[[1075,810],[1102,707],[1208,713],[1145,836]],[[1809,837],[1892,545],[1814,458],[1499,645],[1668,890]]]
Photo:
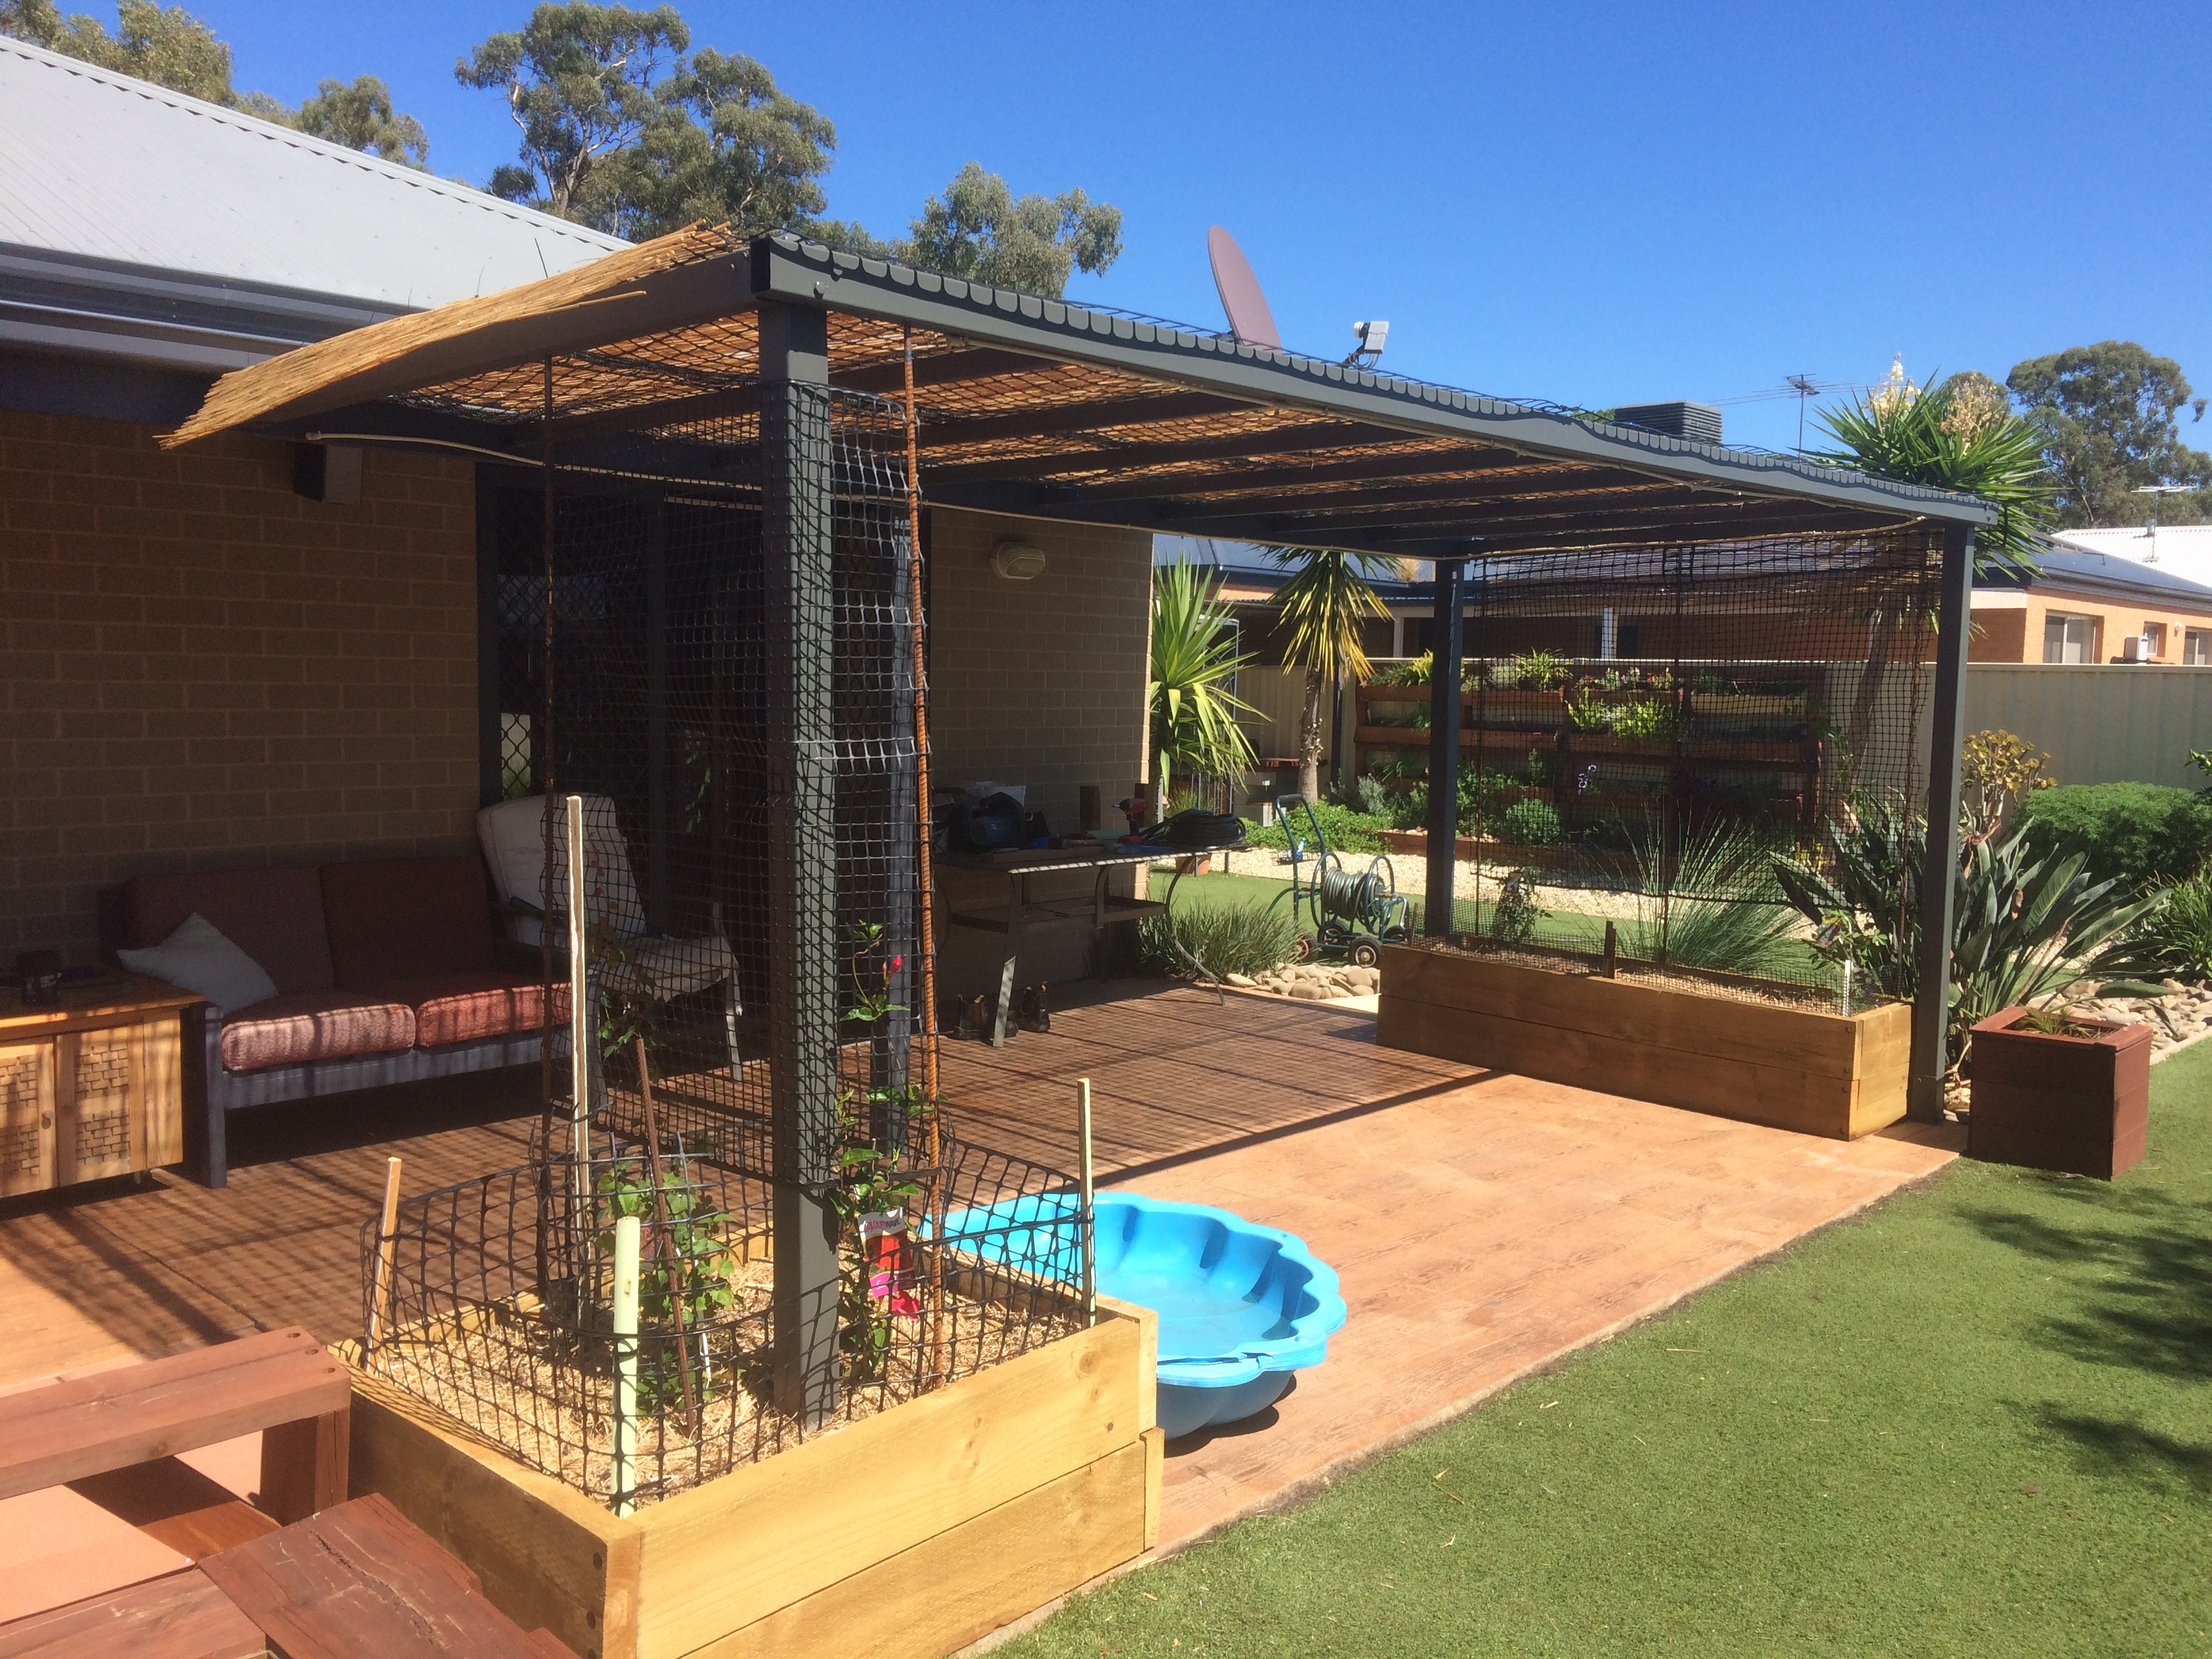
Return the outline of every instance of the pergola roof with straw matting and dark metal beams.
[[[604,283],[577,270],[228,376],[173,440],[385,431],[520,460],[546,438],[566,456],[624,431],[684,445],[759,409],[763,303],[827,312],[849,392],[896,396],[911,332],[922,487],[945,507],[1416,560],[1995,520],[1971,495],[1794,456],[703,230],[606,261]]]

